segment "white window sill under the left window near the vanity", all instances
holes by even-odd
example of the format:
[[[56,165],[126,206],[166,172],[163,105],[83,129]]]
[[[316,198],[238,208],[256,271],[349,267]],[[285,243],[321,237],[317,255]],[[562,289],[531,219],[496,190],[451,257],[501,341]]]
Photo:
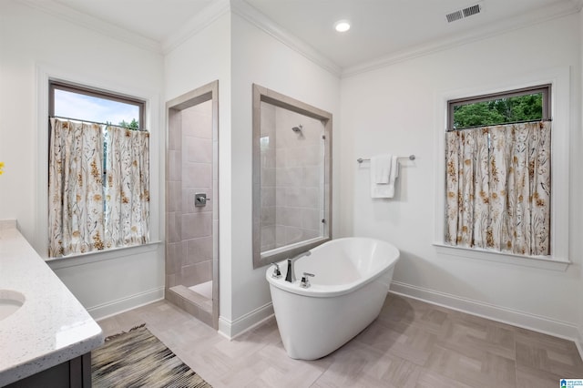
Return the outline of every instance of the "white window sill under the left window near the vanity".
[[[97,250],[62,258],[48,258],[45,259],[45,261],[51,269],[59,270],[62,268],[76,267],[77,265],[85,265],[97,261],[114,260],[123,256],[137,255],[140,253],[158,250],[158,246],[161,242],[162,241],[150,241],[146,244],[133,245],[131,247],[114,248],[111,250]]]

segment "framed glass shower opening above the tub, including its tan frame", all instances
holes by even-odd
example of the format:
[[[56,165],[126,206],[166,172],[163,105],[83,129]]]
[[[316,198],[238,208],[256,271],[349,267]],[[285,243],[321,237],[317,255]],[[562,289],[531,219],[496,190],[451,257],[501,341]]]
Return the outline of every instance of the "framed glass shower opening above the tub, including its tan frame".
[[[253,85],[253,268],[332,238],[332,114]]]

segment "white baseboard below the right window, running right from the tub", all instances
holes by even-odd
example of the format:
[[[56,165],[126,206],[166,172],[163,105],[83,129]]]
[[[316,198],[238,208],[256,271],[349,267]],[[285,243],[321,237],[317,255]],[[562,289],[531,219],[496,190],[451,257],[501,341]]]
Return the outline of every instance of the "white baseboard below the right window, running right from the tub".
[[[583,339],[581,338],[581,333],[578,331],[576,325],[569,322],[561,322],[525,311],[517,311],[482,301],[474,301],[399,281],[391,282],[390,292],[437,304],[448,309],[467,312],[493,321],[504,322],[535,332],[543,332],[555,337],[564,338],[575,342],[578,345],[579,353],[582,353],[581,344],[583,342],[581,340]]]

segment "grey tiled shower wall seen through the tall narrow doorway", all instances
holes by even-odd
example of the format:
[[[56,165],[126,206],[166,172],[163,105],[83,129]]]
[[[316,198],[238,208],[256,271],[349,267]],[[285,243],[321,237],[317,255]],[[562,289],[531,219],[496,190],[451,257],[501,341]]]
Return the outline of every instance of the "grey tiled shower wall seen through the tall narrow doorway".
[[[166,288],[212,280],[213,138],[211,101],[169,115]],[[207,206],[195,208],[195,193]]]

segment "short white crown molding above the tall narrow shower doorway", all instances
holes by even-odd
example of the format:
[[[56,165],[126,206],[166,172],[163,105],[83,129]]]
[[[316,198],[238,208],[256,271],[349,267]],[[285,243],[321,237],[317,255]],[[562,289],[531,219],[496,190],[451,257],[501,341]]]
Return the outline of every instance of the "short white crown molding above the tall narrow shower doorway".
[[[214,0],[210,5],[202,9],[197,15],[180,26],[179,30],[162,42],[162,52],[166,55],[176,47],[182,45],[190,37],[213,24],[222,15],[229,14],[230,0]]]

